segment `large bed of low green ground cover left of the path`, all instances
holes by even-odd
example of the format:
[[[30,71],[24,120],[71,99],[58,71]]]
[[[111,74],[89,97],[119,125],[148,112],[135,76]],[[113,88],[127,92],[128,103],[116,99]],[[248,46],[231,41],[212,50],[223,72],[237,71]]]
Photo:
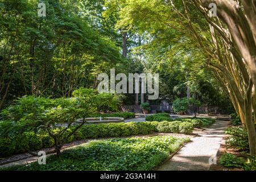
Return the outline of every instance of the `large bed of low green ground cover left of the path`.
[[[151,170],[189,138],[147,137],[93,141],[37,162],[4,170]]]

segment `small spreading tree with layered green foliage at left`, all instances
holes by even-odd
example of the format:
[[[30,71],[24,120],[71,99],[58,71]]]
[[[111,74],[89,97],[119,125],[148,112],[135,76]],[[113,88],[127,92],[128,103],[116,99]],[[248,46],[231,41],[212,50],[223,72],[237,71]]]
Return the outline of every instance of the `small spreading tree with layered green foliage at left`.
[[[47,133],[54,140],[55,150],[59,155],[60,148],[84,125],[86,117],[101,111],[105,106],[117,109],[119,103],[116,94],[98,93],[97,90],[84,88],[75,90],[71,98],[24,96],[15,105],[1,112],[4,121],[0,122],[0,136],[9,139],[19,136],[26,139],[23,136],[26,132]],[[82,122],[76,123],[79,118],[82,118]],[[37,147],[40,148],[40,144]],[[23,148],[27,151],[34,150],[29,145]],[[15,148],[13,150],[16,151]],[[9,153],[9,150],[6,152]]]

